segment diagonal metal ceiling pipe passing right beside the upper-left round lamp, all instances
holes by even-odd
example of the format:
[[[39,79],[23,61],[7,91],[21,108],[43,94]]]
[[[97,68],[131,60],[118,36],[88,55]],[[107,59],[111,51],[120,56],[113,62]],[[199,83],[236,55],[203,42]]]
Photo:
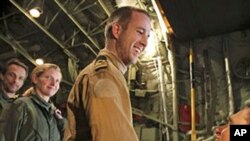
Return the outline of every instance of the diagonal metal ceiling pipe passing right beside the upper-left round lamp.
[[[25,10],[19,6],[14,0],[10,0],[10,2],[16,6],[16,8],[21,11],[26,17],[28,17],[30,19],[30,21],[32,21],[38,28],[40,28],[47,36],[49,36],[57,45],[59,45],[65,54],[67,54],[70,58],[72,58],[73,60],[75,60],[76,62],[79,62],[78,58],[72,54],[69,50],[66,49],[66,47],[64,47],[64,45],[62,45],[60,43],[60,41],[58,41],[47,29],[45,29],[41,24],[39,24],[36,20],[34,20],[27,12],[25,12]]]

